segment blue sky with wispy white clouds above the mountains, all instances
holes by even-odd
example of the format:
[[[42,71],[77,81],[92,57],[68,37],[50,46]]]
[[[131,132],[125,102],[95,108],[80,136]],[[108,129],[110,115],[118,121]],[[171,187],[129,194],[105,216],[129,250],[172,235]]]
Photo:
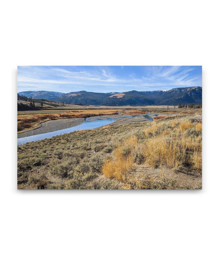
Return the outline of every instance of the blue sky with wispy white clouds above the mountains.
[[[18,66],[20,91],[154,91],[202,86],[202,66]]]

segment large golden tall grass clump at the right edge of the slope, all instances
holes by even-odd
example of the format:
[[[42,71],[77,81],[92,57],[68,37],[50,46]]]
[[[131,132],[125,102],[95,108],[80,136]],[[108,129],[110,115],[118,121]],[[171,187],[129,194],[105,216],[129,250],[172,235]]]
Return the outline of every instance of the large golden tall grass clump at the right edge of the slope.
[[[179,125],[179,126],[178,126]],[[184,170],[186,167],[201,170],[201,123],[195,128],[190,121],[172,121],[157,124],[145,130],[148,135],[144,142],[144,156],[146,162],[154,167],[166,165],[173,170]]]

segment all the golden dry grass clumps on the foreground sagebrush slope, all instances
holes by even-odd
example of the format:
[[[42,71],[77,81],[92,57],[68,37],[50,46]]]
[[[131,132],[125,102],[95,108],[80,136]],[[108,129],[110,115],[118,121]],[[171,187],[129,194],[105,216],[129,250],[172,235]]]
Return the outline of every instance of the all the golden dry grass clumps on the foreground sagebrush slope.
[[[200,130],[200,124],[196,124]],[[185,132],[188,129],[189,132]],[[139,183],[139,178],[130,175],[136,162],[136,152],[143,155],[143,160],[153,167],[168,166],[172,170],[186,170],[191,166],[194,170],[202,169],[201,138],[199,133],[193,135],[194,125],[188,120],[152,123],[144,130],[145,141],[138,142],[136,136],[126,139],[115,152],[115,159],[103,165],[103,174],[107,178],[116,178],[130,186]],[[143,184],[140,184],[142,187]]]

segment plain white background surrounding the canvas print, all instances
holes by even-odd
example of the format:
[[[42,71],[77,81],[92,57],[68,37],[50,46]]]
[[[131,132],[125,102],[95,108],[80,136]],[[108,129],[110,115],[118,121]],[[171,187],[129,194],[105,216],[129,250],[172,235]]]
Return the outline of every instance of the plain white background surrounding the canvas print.
[[[216,5],[2,2],[2,260],[217,259]],[[203,190],[17,191],[17,65],[202,65]]]

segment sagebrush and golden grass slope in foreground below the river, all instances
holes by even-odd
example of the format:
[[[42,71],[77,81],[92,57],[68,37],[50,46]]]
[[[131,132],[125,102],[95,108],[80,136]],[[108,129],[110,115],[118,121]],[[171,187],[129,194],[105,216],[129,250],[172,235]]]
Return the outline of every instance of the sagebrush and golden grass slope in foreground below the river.
[[[201,170],[194,113],[18,146],[20,189],[200,189]]]

